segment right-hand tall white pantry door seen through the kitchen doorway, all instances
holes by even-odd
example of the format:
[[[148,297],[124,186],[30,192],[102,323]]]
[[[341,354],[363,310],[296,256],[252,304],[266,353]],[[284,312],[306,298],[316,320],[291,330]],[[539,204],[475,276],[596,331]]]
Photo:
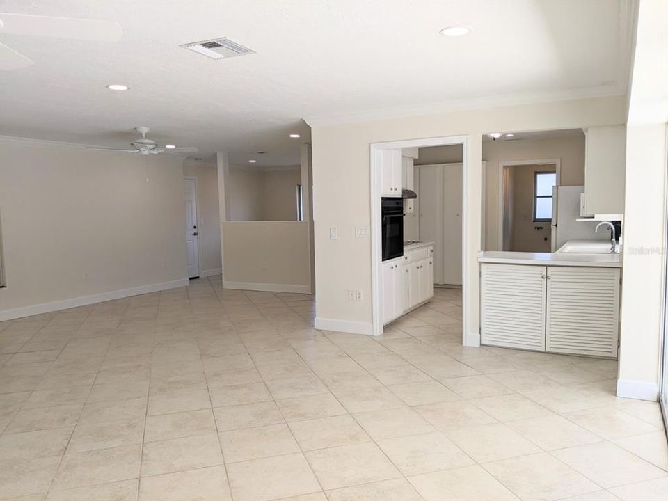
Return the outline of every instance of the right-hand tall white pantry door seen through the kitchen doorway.
[[[461,164],[443,166],[443,283],[461,285]]]

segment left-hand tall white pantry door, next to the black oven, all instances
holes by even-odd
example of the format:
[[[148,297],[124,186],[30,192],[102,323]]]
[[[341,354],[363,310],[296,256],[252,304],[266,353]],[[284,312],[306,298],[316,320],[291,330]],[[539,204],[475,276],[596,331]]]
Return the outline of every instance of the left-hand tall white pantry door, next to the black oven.
[[[420,240],[434,241],[434,283],[443,283],[443,168],[420,166]],[[460,241],[461,243],[461,241]]]

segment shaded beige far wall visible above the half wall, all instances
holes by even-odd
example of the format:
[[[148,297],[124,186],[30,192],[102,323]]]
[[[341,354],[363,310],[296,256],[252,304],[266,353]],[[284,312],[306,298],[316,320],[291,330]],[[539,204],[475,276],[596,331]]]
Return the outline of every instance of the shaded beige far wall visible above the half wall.
[[[228,193],[230,221],[296,221],[299,166],[247,168],[232,166]]]

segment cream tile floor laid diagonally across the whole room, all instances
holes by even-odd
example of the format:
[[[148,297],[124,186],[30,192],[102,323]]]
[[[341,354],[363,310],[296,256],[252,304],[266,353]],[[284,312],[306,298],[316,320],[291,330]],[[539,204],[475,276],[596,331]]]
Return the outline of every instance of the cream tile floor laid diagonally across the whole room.
[[[220,278],[0,324],[0,498],[662,500],[617,363],[461,347],[461,294],[375,339]]]

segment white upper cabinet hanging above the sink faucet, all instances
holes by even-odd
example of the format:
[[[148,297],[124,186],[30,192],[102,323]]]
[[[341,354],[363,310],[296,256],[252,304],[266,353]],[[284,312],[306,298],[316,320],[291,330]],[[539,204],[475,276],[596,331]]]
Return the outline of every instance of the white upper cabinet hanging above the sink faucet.
[[[626,126],[589,127],[584,134],[584,212],[623,214]]]

